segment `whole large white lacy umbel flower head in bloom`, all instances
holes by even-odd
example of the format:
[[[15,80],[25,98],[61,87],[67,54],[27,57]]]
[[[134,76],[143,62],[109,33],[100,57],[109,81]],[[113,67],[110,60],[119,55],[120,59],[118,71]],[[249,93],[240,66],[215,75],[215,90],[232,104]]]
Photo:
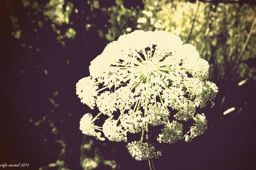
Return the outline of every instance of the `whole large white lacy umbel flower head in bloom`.
[[[149,126],[164,126],[157,140],[170,144],[183,137],[191,141],[206,130],[207,120],[204,114],[195,115],[196,107],[213,103],[218,88],[207,81],[208,62],[177,35],[165,31],[124,34],[105,47],[89,70],[90,76],[76,84],[76,94],[100,113],[94,118],[89,113],[83,116],[84,134],[103,140],[103,132],[111,141],[127,142],[127,133],[141,133],[127,147],[136,160],[145,160],[160,156],[147,143]],[[108,116],[102,127],[94,125],[101,114]],[[176,120],[170,123],[170,119]],[[189,119],[195,124],[182,136],[183,125],[177,121]]]

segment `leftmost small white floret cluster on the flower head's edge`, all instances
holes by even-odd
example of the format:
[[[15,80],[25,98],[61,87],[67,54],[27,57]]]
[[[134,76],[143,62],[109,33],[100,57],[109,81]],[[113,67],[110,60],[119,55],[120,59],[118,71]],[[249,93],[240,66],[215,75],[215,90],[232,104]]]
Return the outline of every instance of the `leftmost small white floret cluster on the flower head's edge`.
[[[95,106],[95,97],[98,92],[95,85],[95,79],[92,77],[84,77],[76,83],[76,94],[81,99],[81,102],[88,105],[91,109]]]

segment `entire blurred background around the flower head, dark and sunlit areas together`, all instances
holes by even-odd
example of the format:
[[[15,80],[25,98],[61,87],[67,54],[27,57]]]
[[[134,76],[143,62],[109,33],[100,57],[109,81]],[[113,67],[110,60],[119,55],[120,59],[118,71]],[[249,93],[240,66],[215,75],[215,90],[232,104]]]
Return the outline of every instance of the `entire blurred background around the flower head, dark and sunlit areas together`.
[[[4,0],[0,164],[24,170],[148,169],[125,142],[82,135],[93,111],[76,96],[90,61],[122,34],[164,30],[194,45],[219,93],[200,109],[208,130],[192,142],[154,144],[157,170],[256,169],[256,2],[253,0]],[[198,111],[199,112],[199,111]],[[96,114],[96,113],[94,113]],[[156,132],[157,134],[157,132]]]

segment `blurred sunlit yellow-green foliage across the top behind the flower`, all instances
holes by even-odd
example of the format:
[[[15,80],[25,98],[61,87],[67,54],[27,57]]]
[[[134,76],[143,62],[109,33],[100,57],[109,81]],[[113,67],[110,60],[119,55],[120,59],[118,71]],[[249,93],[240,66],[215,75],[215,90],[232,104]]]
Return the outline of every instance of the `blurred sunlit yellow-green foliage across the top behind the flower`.
[[[51,20],[56,39],[65,46],[66,39],[75,39],[70,14],[79,13],[84,20],[84,31],[96,31],[102,39],[113,41],[120,35],[136,29],[145,31],[164,30],[177,34],[184,43],[195,45],[201,57],[210,63],[212,79],[253,79],[256,82],[256,68],[250,68],[243,61],[255,58],[256,29],[245,45],[250,28],[256,17],[256,6],[238,3],[190,3],[180,0],[143,0],[144,9],[126,8],[123,0],[115,0],[111,6],[101,6],[102,1],[87,0],[90,12],[79,11],[79,6],[65,0],[49,0],[40,5],[33,0],[22,0],[23,6],[32,6]],[[75,8],[75,10],[74,10]],[[102,18],[102,16],[105,16]],[[12,35],[19,39],[18,18],[10,16],[13,22]],[[102,24],[99,24],[102,20]],[[65,24],[63,29],[63,25]],[[83,23],[79,23],[83,25]],[[42,21],[38,21],[43,27]],[[61,29],[62,28],[62,29]],[[243,50],[244,48],[244,50]],[[234,74],[235,73],[235,74]]]

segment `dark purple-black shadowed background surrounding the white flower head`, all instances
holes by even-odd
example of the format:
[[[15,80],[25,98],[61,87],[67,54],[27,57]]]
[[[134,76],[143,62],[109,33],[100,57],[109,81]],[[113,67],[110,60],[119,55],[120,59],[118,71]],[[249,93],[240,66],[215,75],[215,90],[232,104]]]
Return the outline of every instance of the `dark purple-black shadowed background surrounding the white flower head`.
[[[11,8],[8,2],[11,2]],[[40,3],[44,5],[47,0]],[[86,3],[81,0],[72,3],[84,8],[84,15],[90,15]],[[142,2],[125,3],[127,8],[144,8]],[[59,159],[65,161],[65,167],[80,170],[81,143],[93,138],[83,137],[79,130],[81,117],[90,109],[79,101],[76,82],[89,75],[90,61],[102,52],[108,41],[96,34],[96,28],[84,31],[82,17],[72,13],[70,20],[74,23],[72,27],[76,30],[76,38],[65,40],[64,47],[56,41],[58,35],[51,30],[49,21],[44,21],[44,28],[40,32],[33,31],[36,26],[31,20],[44,18],[43,14],[27,15],[28,12],[33,13],[34,9],[24,8],[18,0],[6,0],[1,4],[0,164],[29,163],[24,170],[37,170]],[[110,6],[111,3],[101,4]],[[22,28],[24,37],[19,40],[11,36],[13,24],[9,16],[12,13],[18,17]],[[94,13],[96,17],[88,22],[105,28],[105,24],[109,24],[109,16],[99,10]],[[26,44],[26,48],[22,47],[21,42]],[[29,45],[32,48],[27,48]],[[40,48],[40,51],[36,48]],[[208,120],[208,130],[202,136],[192,142],[181,140],[175,144],[157,144],[155,141],[154,146],[162,151],[160,159],[154,160],[157,170],[256,169],[255,83],[249,80],[238,86],[239,81],[214,80],[219,88],[215,107],[211,109],[208,105],[197,110],[205,113]],[[224,96],[225,101],[221,106]],[[231,107],[236,110],[223,115]],[[240,108],[241,112],[236,115]],[[58,133],[52,133],[53,127]],[[154,129],[152,131],[156,133]],[[64,145],[60,141],[64,141]],[[97,154],[115,160],[119,169],[148,169],[147,161],[135,161],[129,155],[124,142],[93,141],[93,147],[99,148]],[[60,154],[63,146],[65,153]],[[95,153],[84,155],[93,157]],[[109,167],[100,164],[98,169],[106,170]]]

